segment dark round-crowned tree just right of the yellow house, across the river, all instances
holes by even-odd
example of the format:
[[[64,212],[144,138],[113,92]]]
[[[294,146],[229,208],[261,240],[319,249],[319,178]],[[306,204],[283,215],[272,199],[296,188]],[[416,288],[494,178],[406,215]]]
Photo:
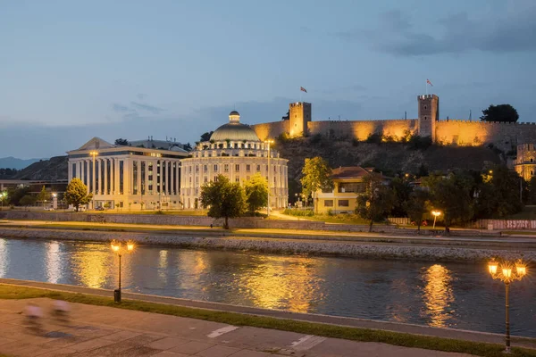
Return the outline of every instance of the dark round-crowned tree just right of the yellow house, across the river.
[[[363,179],[365,191],[357,196],[356,213],[364,220],[369,220],[369,232],[373,223],[385,220],[395,206],[397,196],[386,185],[380,175],[369,175]]]

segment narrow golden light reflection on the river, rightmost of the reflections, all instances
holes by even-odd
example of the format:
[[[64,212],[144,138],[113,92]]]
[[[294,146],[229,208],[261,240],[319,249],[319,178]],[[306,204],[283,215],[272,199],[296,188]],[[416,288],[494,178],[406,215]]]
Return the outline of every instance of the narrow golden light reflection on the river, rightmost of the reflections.
[[[435,264],[423,273],[424,314],[430,319],[430,325],[441,328],[447,326],[450,319],[450,304],[454,302],[452,292],[452,272],[442,265]]]

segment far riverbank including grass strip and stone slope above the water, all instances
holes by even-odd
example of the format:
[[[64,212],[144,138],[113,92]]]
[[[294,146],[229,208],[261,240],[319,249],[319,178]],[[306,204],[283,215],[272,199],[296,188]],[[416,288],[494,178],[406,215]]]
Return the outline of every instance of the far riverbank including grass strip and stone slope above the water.
[[[109,242],[113,239],[132,240],[138,245],[170,245],[182,248],[201,248],[232,251],[253,251],[282,254],[317,254],[352,256],[375,259],[421,260],[432,262],[480,262],[492,256],[506,259],[536,261],[535,243],[532,239],[518,238],[515,241],[498,238],[425,238],[354,236],[326,237],[265,237],[222,236],[216,232],[207,236],[206,231],[106,231],[88,230],[87,227],[69,228],[21,228],[0,226],[0,237],[40,238]]]

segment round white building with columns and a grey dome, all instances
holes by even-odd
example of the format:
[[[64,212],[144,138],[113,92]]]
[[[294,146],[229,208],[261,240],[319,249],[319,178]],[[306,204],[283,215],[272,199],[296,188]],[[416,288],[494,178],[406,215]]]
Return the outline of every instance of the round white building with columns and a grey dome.
[[[261,142],[254,129],[240,123],[239,112],[230,112],[229,123],[216,129],[209,141],[198,143],[190,154],[180,166],[180,200],[185,208],[201,208],[201,187],[219,174],[243,183],[257,172],[268,180],[270,206],[287,206],[288,160]]]

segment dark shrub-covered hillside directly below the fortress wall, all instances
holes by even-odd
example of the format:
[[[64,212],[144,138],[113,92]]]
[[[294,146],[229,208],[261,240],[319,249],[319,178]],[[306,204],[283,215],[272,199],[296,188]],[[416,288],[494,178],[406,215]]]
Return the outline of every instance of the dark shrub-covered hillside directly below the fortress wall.
[[[292,139],[280,138],[274,145],[281,157],[289,159],[289,200],[298,192],[301,170],[306,158],[321,156],[332,168],[339,166],[373,167],[384,175],[416,175],[419,170],[484,170],[503,162],[502,154],[485,146],[430,145],[415,149],[401,143],[366,143],[352,139],[330,139],[315,135]],[[421,168],[423,166],[423,168]]]

